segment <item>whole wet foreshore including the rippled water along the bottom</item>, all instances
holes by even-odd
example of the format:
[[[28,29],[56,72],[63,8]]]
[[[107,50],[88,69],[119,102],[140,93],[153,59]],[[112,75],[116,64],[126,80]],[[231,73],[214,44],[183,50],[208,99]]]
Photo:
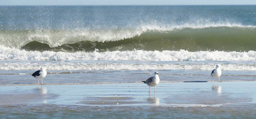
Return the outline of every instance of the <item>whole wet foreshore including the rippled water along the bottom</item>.
[[[254,118],[256,82],[1,85],[0,114],[9,117]],[[23,110],[23,111],[21,111]],[[99,114],[100,112],[100,114]],[[211,114],[209,114],[211,112]]]

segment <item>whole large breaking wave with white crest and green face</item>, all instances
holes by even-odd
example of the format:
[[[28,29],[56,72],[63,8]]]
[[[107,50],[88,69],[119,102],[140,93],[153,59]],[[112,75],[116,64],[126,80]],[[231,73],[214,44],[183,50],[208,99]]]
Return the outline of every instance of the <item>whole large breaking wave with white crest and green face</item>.
[[[141,26],[137,29],[2,30],[0,45],[27,51],[256,51],[256,27],[239,24]]]

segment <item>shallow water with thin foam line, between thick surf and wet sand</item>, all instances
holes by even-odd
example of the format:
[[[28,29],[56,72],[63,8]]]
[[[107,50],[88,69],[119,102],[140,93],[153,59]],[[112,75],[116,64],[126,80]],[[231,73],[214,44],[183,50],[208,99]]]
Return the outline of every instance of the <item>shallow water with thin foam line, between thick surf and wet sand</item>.
[[[37,83],[31,76],[46,66],[44,83],[140,82],[159,72],[160,82],[212,81],[211,71],[221,64],[221,81],[255,81],[255,61],[22,61],[2,60],[0,84]],[[217,79],[215,78],[215,81]]]

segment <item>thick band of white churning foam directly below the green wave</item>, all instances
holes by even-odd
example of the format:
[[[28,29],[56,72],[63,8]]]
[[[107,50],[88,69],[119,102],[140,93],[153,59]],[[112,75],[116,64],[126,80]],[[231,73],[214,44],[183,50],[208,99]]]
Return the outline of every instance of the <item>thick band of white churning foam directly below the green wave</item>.
[[[107,52],[54,52],[25,51],[0,46],[0,60],[131,60],[131,61],[253,61],[256,51],[107,51]]]

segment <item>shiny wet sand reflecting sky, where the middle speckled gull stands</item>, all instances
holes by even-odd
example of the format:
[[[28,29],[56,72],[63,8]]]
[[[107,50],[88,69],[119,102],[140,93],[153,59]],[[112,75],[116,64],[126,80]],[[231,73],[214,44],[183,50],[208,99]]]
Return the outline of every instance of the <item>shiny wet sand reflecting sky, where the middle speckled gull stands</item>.
[[[0,104],[221,105],[256,102],[256,82],[0,86]]]

